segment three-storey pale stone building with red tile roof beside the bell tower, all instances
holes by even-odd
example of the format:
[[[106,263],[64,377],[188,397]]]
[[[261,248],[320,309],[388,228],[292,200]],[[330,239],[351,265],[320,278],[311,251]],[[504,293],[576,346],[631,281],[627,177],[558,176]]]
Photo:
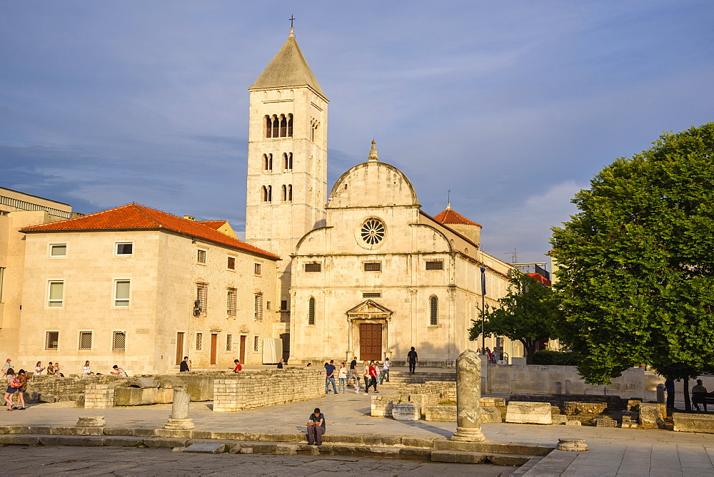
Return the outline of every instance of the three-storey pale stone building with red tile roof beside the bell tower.
[[[24,227],[19,362],[65,374],[119,364],[164,373],[262,362],[279,337],[277,255],[238,240],[225,221],[197,222],[138,204]]]

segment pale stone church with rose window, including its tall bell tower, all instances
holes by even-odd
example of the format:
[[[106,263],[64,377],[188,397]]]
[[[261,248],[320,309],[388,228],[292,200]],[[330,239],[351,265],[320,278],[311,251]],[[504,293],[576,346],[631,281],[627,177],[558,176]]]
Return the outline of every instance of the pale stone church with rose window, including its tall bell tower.
[[[448,365],[479,347],[468,330],[482,299],[498,306],[516,270],[481,251],[481,225],[451,205],[421,210],[374,140],[328,195],[329,101],[293,29],[248,90],[246,241],[283,258],[276,301],[291,364],[399,362],[416,347],[421,364]]]

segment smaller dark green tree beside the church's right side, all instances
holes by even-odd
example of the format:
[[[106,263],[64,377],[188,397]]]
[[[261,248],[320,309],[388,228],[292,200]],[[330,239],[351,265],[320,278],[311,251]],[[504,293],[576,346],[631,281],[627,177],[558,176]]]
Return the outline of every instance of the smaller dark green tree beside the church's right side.
[[[498,300],[501,308],[486,311],[483,334],[518,340],[526,350],[526,362],[533,363],[538,342],[556,337],[553,327],[558,308],[550,287],[536,282],[521,272],[510,279],[508,294]],[[472,320],[471,339],[481,335],[481,322]]]

